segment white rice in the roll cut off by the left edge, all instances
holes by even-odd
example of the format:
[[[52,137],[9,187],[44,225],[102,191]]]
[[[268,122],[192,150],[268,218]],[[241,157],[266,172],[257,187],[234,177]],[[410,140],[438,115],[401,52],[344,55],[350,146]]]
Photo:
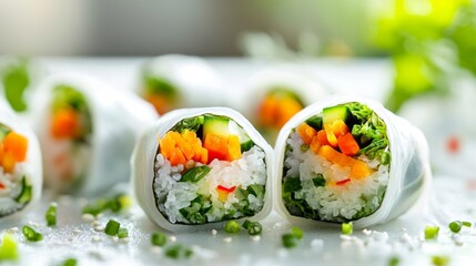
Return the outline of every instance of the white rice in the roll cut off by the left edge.
[[[24,176],[23,163],[17,163],[13,173],[4,173],[0,167],[0,217],[21,209],[24,204],[18,203],[16,198],[20,195],[22,178]]]

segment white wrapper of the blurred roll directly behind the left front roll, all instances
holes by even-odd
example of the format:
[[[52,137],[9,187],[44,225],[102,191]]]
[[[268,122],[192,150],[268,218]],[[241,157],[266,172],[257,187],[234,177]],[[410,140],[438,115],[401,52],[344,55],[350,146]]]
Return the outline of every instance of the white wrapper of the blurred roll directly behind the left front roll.
[[[179,90],[179,108],[215,106],[226,101],[220,73],[203,59],[166,54],[146,62],[142,71],[174,85]],[[142,80],[139,83],[142,91]]]

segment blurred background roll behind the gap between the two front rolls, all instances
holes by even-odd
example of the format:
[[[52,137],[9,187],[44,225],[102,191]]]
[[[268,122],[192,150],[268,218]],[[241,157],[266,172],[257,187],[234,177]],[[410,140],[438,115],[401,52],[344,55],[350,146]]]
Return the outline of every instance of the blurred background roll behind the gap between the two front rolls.
[[[294,114],[328,93],[311,74],[292,66],[257,73],[249,88],[245,114],[270,143]]]

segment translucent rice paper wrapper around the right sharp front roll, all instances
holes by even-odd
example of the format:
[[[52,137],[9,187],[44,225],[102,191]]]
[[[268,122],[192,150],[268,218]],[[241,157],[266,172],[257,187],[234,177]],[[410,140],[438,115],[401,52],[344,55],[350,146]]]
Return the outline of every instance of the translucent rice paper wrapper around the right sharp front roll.
[[[297,113],[283,126],[275,146],[275,176],[276,192],[275,206],[281,215],[292,223],[303,226],[340,225],[340,223],[322,222],[291,215],[282,198],[283,162],[286,140],[293,129],[308,117],[318,114],[324,108],[338,104],[358,102],[373,110],[386,124],[391,150],[389,176],[385,196],[381,206],[371,215],[353,221],[356,228],[364,228],[386,223],[404,214],[413,206],[423,209],[428,196],[432,180],[428,144],[424,134],[406,120],[393,114],[381,103],[353,95],[333,95],[318,101]],[[413,208],[412,208],[413,211]]]

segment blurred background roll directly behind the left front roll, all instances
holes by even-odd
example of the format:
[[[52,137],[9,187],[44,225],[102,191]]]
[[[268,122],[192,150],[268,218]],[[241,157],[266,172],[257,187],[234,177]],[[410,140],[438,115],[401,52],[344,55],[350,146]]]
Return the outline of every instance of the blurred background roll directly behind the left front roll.
[[[159,114],[179,108],[223,105],[222,79],[203,59],[162,55],[146,62],[141,71],[139,93]]]

